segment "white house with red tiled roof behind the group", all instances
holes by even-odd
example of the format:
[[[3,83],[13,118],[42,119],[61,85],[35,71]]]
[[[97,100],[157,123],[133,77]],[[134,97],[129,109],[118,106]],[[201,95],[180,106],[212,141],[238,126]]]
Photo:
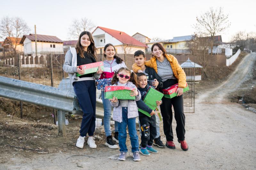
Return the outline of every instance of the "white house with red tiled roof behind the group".
[[[96,48],[101,48],[102,51],[104,46],[108,43],[115,46],[118,54],[134,54],[134,52],[137,50],[142,50],[145,52],[145,49],[148,47],[122,31],[104,28],[101,26],[98,26],[92,32],[92,36]],[[99,54],[100,50],[98,50],[97,53]]]

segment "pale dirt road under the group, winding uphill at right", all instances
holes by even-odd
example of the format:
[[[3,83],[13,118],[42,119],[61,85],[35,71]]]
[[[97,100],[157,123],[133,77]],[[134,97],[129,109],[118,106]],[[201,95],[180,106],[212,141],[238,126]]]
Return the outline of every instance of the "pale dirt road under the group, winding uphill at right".
[[[131,156],[126,161],[110,159],[118,150],[86,146],[65,153],[1,155],[6,162],[0,169],[256,169],[256,114],[226,99],[246,80],[254,60],[256,54],[244,57],[227,81],[196,99],[195,114],[186,114],[187,152],[180,149],[175,135],[175,150],[158,148],[159,153],[141,155],[139,162]],[[173,129],[175,124],[174,121]],[[165,142],[163,130],[161,134]],[[72,155],[95,158],[68,158]]]

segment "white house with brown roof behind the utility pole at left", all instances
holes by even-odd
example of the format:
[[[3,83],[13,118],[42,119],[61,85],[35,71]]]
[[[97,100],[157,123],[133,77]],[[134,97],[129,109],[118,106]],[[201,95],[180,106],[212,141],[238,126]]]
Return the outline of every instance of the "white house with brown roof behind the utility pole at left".
[[[36,54],[36,44],[37,54],[63,53],[63,41],[56,36],[36,34],[35,42],[35,34],[23,35],[20,43],[24,46],[25,55]]]

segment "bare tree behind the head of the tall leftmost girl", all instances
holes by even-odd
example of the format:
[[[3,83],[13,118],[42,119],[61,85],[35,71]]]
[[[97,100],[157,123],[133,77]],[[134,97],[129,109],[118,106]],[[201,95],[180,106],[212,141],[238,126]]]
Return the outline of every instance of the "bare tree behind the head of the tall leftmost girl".
[[[75,19],[73,23],[69,26],[68,37],[70,38],[70,40],[71,39],[76,40],[78,39],[81,32],[83,31],[92,32],[94,28],[95,28],[94,23],[86,17],[81,19]]]

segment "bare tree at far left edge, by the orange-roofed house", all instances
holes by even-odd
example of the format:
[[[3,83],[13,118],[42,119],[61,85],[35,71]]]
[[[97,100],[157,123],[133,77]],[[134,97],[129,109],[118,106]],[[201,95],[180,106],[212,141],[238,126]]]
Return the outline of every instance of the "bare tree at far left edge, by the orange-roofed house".
[[[19,17],[5,16],[0,21],[0,38],[6,40],[8,49],[4,51],[11,51],[14,55],[17,53],[17,45],[20,43],[20,38],[30,31],[27,23]],[[11,38],[8,38],[11,37]],[[7,39],[6,39],[7,38]],[[4,45],[4,44],[3,44]]]

